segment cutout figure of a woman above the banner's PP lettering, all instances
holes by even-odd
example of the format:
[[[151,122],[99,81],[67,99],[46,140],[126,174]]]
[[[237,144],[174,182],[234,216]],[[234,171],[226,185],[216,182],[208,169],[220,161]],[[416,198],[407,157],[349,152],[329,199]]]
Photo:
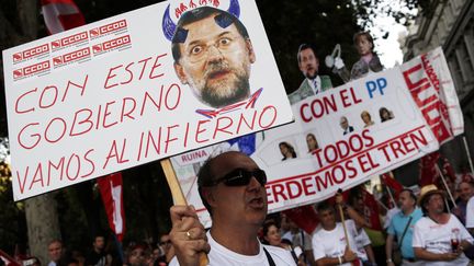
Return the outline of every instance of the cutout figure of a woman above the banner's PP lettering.
[[[373,50],[374,42],[369,32],[356,33],[353,43],[360,59],[352,66],[350,73],[340,57],[335,58],[334,62],[336,72],[345,83],[363,78],[369,72],[380,72],[384,69],[379,56]]]

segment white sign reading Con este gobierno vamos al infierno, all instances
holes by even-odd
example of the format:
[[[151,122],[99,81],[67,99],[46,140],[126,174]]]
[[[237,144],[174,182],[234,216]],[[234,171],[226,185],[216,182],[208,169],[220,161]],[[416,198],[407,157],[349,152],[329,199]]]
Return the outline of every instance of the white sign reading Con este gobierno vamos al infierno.
[[[228,12],[177,25],[204,7]],[[203,67],[217,54],[226,65]],[[15,200],[293,119],[255,1],[158,3],[4,50],[3,66]]]

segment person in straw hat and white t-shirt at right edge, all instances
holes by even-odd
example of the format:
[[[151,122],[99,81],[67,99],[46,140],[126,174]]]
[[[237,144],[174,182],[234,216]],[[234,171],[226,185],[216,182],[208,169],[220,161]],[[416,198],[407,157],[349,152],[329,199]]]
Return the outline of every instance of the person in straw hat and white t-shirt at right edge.
[[[433,184],[421,188],[418,205],[425,217],[415,224],[415,256],[426,265],[469,265],[463,251],[474,240],[460,220],[445,211],[444,197],[444,192]]]

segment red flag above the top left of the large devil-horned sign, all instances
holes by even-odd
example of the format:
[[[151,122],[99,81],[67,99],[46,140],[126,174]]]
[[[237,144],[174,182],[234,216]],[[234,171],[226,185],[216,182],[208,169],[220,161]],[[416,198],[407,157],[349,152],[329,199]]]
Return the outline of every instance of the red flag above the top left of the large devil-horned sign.
[[[74,0],[41,0],[41,3],[49,34],[86,24],[84,18]]]

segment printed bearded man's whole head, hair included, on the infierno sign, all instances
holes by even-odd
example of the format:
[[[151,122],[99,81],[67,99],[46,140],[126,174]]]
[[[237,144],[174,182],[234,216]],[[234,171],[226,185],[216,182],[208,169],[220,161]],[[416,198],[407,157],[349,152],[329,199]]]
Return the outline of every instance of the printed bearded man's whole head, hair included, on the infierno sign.
[[[229,12],[212,7],[190,10],[179,19],[172,35],[179,80],[214,108],[250,97],[250,66],[256,55],[238,12],[238,7],[230,7]]]

